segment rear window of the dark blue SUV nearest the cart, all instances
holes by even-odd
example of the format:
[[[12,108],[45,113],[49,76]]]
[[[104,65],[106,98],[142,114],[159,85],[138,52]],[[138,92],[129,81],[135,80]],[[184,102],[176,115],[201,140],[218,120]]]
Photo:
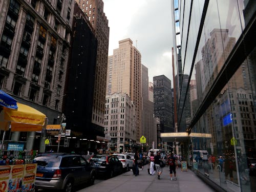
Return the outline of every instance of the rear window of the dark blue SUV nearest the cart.
[[[57,155],[39,156],[35,158],[37,165],[58,167],[60,163],[60,157]]]

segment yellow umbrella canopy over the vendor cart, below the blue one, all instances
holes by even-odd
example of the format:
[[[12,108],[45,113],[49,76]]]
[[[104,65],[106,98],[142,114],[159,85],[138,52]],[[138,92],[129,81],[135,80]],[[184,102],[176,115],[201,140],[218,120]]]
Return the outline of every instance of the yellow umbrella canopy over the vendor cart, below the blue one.
[[[31,106],[17,103],[18,109],[4,108],[0,113],[0,130],[7,131],[41,131],[45,125],[46,115]]]

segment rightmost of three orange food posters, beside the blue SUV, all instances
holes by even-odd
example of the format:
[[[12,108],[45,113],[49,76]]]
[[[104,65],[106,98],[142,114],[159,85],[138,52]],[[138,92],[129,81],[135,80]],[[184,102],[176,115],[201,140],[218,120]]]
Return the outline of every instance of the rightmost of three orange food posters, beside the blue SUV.
[[[34,164],[25,164],[25,170],[24,170],[24,175],[23,175],[23,182],[22,182],[22,190],[21,191],[24,191],[24,192],[33,192],[34,191],[36,166],[37,166],[36,163],[34,163]]]

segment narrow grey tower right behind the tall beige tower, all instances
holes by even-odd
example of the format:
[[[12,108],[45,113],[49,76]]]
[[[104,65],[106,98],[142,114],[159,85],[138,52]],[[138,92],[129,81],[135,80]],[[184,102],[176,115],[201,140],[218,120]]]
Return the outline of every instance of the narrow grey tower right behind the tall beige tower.
[[[150,100],[153,90],[148,85],[148,69],[141,65],[141,134],[146,138],[146,146],[152,148],[153,142],[157,142],[157,125],[154,117],[154,101]]]

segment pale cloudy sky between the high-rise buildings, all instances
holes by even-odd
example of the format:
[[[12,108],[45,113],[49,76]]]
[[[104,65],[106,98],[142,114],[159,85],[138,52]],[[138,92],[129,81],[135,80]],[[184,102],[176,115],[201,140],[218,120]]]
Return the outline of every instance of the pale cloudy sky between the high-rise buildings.
[[[118,41],[131,38],[148,68],[148,77],[172,75],[172,18],[170,0],[103,0],[109,20],[109,55]]]

